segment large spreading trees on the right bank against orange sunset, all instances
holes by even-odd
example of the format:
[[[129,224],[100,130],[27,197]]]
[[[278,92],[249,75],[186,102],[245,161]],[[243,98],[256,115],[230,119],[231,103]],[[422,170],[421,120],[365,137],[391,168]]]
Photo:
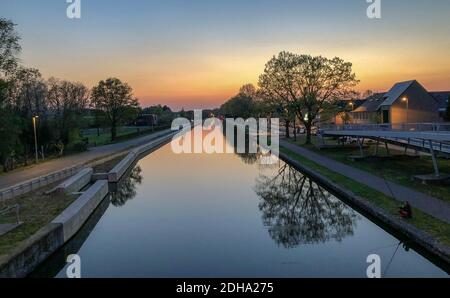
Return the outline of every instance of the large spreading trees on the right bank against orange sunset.
[[[220,111],[225,117],[279,117],[288,135],[291,123],[298,120],[310,144],[320,115],[333,110],[337,101],[354,97],[358,83],[352,63],[341,58],[283,51],[267,62],[258,87],[244,85]]]

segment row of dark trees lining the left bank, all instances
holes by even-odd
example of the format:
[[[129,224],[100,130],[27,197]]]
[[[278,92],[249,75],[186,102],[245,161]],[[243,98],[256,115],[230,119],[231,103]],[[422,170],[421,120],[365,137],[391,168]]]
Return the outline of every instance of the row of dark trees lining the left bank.
[[[64,154],[69,147],[83,150],[79,130],[86,116],[96,126],[117,128],[140,111],[132,88],[117,78],[102,80],[89,89],[79,82],[44,79],[38,69],[21,65],[20,36],[15,24],[0,19],[0,163],[4,171],[17,162],[25,165],[36,152]],[[39,145],[35,144],[36,136]]]

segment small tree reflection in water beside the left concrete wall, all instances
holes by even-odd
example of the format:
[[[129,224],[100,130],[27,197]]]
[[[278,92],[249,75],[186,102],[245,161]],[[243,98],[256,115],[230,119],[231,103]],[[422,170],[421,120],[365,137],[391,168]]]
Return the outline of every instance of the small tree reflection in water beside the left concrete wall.
[[[140,166],[134,167],[117,185],[116,191],[111,194],[111,204],[115,207],[124,206],[127,201],[136,196],[136,186],[142,183],[142,169]]]

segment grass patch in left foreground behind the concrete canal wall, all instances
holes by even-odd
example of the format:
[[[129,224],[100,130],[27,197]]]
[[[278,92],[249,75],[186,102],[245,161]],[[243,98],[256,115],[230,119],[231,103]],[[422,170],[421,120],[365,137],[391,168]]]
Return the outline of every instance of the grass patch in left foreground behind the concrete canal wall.
[[[6,235],[0,236],[0,255],[11,253],[11,251],[22,241],[28,239],[39,229],[50,223],[73,201],[75,201],[75,196],[50,196],[44,194],[44,192],[55,186],[56,183],[39,189],[31,194],[11,199],[0,204],[0,208],[19,204],[20,221],[23,222],[20,227]],[[0,222],[15,222],[15,216],[2,216],[0,217]]]

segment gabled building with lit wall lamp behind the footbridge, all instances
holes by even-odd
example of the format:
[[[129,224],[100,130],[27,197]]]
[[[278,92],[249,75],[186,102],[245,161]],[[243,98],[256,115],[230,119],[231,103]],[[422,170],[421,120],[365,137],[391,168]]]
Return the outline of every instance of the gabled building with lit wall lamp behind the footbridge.
[[[441,92],[438,92],[439,94]],[[439,112],[443,103],[416,80],[395,84],[387,93],[377,93],[351,113],[352,122],[375,123],[434,123],[442,122]],[[438,95],[439,95],[438,94]],[[445,97],[445,92],[439,95]]]

